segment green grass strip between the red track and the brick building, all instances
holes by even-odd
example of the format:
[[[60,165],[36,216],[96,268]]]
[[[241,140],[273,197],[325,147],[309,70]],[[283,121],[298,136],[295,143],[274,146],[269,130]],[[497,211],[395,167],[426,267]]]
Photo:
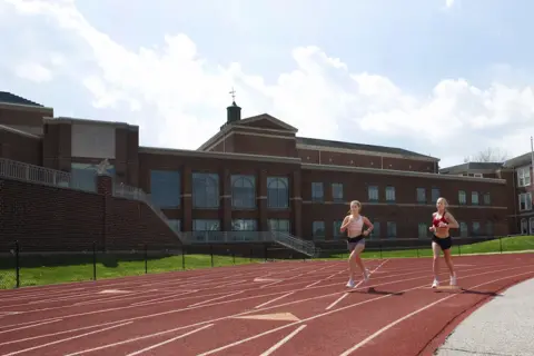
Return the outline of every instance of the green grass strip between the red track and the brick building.
[[[428,244],[422,248],[383,250],[382,258],[402,257],[431,257],[432,250]],[[508,251],[522,251],[534,249],[534,236],[506,237],[501,240],[488,240],[473,245],[454,246],[453,255],[490,254]],[[366,250],[364,258],[380,258],[377,250]],[[347,258],[347,253],[330,254],[323,260]],[[214,267],[244,265],[258,263],[263,259],[250,259],[248,257],[214,256]],[[164,271],[182,270],[184,260],[181,256],[149,256],[147,270],[149,274]],[[135,276],[145,274],[145,255],[98,255],[97,279],[117,278],[122,276]],[[186,255],[185,269],[211,268],[211,256],[209,255]],[[68,281],[91,280],[93,277],[93,265],[91,254],[71,254],[53,256],[24,256],[20,257],[20,285],[38,286],[51,285]],[[3,258],[0,263],[0,289],[13,288],[16,286],[14,259]]]

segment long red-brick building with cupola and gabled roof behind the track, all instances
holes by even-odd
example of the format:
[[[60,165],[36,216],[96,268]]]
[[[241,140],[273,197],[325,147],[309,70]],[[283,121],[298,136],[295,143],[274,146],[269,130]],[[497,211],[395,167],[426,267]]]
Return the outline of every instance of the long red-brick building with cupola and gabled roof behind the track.
[[[0,157],[70,172],[71,188],[95,192],[96,167],[108,159],[115,189],[142,189],[172,229],[194,240],[217,239],[219,231],[243,231],[246,240],[247,231],[268,230],[340,240],[353,199],[374,221],[374,237],[428,237],[439,196],[461,222],[456,235],[520,228],[513,168],[439,174],[437,158],[298,137],[268,113],[241,119],[235,102],[222,123],[196,150],[142,147],[137,126],[53,117],[52,108],[2,92]]]

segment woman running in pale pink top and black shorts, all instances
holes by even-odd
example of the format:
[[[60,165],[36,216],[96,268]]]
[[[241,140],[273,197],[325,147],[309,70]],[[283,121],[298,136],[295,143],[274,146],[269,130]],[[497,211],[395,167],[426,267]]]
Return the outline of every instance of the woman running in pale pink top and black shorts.
[[[373,224],[365,216],[359,215],[362,210],[362,204],[358,200],[350,201],[349,215],[345,217],[342,222],[340,231],[345,233],[348,229],[347,246],[350,255],[348,256],[348,267],[350,271],[350,278],[348,279],[347,287],[353,288],[356,284],[356,265],[359,267],[364,275],[364,280],[369,279],[369,271],[364,267],[364,263],[359,255],[365,248],[365,237],[373,231]],[[364,224],[368,227],[363,231]]]

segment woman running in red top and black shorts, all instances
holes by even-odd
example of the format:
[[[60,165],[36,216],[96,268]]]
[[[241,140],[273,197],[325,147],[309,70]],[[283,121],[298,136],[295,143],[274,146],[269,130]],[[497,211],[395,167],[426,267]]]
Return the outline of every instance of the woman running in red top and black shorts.
[[[434,254],[434,283],[432,284],[432,288],[437,288],[439,286],[439,249],[443,251],[445,263],[451,273],[451,286],[456,286],[456,274],[451,257],[453,240],[451,239],[448,229],[456,229],[459,225],[454,216],[447,211],[447,206],[448,202],[445,198],[438,198],[436,201],[437,211],[432,214],[432,226],[429,227],[429,230],[434,233],[434,236],[432,237],[432,251]]]

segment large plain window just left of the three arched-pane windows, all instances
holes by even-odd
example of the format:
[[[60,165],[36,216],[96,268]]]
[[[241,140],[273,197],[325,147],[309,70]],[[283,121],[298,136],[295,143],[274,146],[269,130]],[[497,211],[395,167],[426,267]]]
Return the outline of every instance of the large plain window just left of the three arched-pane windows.
[[[162,209],[178,208],[180,206],[180,172],[151,170],[150,200]]]

